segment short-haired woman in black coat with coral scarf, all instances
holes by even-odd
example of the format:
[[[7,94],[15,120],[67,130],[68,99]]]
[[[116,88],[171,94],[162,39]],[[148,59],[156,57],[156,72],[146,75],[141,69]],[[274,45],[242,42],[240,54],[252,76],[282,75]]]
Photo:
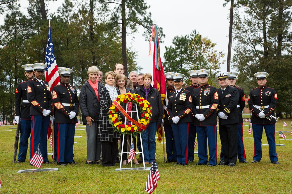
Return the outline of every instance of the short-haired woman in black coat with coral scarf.
[[[98,121],[100,112],[99,93],[103,85],[98,83],[99,70],[96,66],[89,67],[89,76],[81,87],[79,96],[83,124],[86,124],[87,158],[86,164],[101,164],[101,142],[98,142]]]

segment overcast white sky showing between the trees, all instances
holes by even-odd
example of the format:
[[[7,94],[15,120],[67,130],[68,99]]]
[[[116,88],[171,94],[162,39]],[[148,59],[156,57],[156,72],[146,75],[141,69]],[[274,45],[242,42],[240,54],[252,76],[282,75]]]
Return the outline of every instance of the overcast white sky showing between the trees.
[[[47,2],[49,14],[56,12],[62,2],[63,0]],[[166,35],[164,44],[160,44],[162,64],[165,46],[169,47],[176,35],[187,35],[197,30],[202,37],[208,37],[217,44],[215,49],[225,53],[225,64],[221,65],[221,70],[226,71],[229,33],[227,16],[230,4],[224,8],[223,0],[147,0],[146,2],[151,6],[149,11],[152,13],[152,20],[158,27],[163,28]],[[27,0],[20,0],[20,3],[23,8],[28,6]],[[152,56],[148,56],[149,40],[145,42],[142,33],[143,29],[140,27],[138,33],[127,36],[127,46],[137,51],[137,63],[143,67],[142,73],[152,73]],[[153,42],[151,45],[153,51]]]

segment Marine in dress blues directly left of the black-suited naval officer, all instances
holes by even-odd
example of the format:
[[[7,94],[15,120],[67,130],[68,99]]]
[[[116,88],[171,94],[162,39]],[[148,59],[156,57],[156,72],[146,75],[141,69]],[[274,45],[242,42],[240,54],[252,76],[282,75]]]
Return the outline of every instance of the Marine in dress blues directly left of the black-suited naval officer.
[[[208,166],[217,165],[217,116],[215,110],[218,106],[217,89],[208,85],[208,70],[198,70],[200,87],[192,93],[192,113],[195,116],[194,125],[197,130],[198,157],[197,165],[206,165],[208,160],[207,138],[209,147]]]

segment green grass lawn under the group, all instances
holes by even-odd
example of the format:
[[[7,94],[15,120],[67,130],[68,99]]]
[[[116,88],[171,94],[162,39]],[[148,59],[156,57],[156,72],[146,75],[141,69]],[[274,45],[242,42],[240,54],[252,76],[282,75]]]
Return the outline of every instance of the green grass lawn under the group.
[[[290,120],[285,120],[287,129],[283,130],[283,120],[276,124],[276,131],[290,131]],[[245,122],[244,125],[249,123]],[[84,126],[84,125],[79,125]],[[59,168],[52,172],[17,173],[22,169],[32,169],[29,165],[29,153],[24,163],[12,163],[13,144],[16,129],[13,126],[0,127],[0,193],[146,193],[144,191],[148,170],[115,171],[116,167],[86,165],[86,131],[76,130],[74,144],[74,160],[77,165],[60,166],[56,163],[43,164],[41,168]],[[82,129],[82,128],[77,128]],[[85,129],[85,126],[84,126]],[[6,131],[12,130],[12,131]],[[244,126],[244,138],[248,137],[248,126]],[[284,133],[291,139],[290,132]],[[218,135],[218,162],[220,160],[220,137]],[[262,146],[263,158],[260,163],[251,163],[253,158],[253,139],[244,139],[248,164],[239,163],[229,166],[197,166],[198,156],[194,163],[187,166],[164,163],[162,144],[157,143],[156,157],[160,180],[157,193],[292,193],[292,140],[279,140],[279,132],[275,134],[279,165],[272,164],[269,159],[268,146]],[[250,136],[252,137],[252,135]],[[49,143],[49,141],[48,141]],[[267,144],[265,133],[262,143]],[[197,151],[197,147],[195,148]],[[48,152],[51,147],[48,145]],[[48,157],[52,161],[51,156]],[[142,165],[137,165],[137,167]],[[150,165],[147,165],[150,167]],[[130,167],[130,164],[123,167]],[[154,192],[153,192],[154,193]]]

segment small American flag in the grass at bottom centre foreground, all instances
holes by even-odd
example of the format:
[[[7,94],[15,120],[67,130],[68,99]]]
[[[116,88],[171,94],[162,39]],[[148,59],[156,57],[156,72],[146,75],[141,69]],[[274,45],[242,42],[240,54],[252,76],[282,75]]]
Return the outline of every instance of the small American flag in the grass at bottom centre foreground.
[[[158,167],[157,167],[157,162],[156,158],[154,158],[149,175],[146,181],[145,185],[145,191],[149,194],[151,194],[157,187],[157,181],[160,180],[159,172],[158,172]]]

